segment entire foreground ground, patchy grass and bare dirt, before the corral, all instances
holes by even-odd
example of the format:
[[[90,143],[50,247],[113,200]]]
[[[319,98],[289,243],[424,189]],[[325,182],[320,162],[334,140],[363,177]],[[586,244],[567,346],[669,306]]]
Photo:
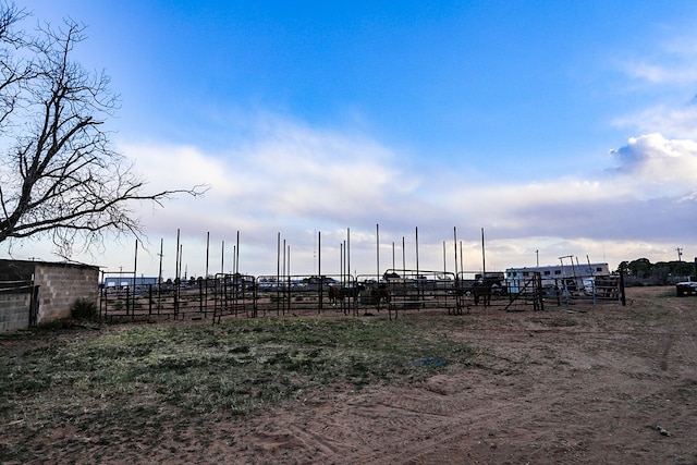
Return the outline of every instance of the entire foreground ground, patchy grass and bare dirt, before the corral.
[[[0,463],[694,463],[697,298],[627,295],[3,334]]]

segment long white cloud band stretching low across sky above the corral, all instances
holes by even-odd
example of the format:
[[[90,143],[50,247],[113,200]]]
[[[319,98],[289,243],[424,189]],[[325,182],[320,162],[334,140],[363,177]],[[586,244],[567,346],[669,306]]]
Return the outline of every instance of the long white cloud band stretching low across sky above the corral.
[[[166,238],[164,267],[174,268],[178,229],[184,264],[196,274],[204,272],[206,234],[211,236],[210,269],[218,271],[223,241],[227,269],[232,262],[236,231],[243,271],[276,272],[280,233],[292,248],[295,272],[313,272],[321,232],[322,269],[337,272],[347,228],[352,271],[374,272],[376,223],[382,268],[391,266],[393,242],[401,264],[403,237],[407,266],[413,266],[416,227],[428,255],[420,257],[421,269],[442,268],[442,242],[452,246],[453,227],[465,244],[467,268],[475,269],[480,228],[487,233],[488,269],[531,265],[535,250],[543,262],[574,254],[594,261],[607,257],[611,266],[640,256],[672,259],[675,246],[686,256],[694,247],[697,255],[689,228],[697,216],[697,143],[689,139],[634,137],[612,151],[604,171],[596,169],[600,175],[527,184],[473,183],[456,171],[443,182],[442,173],[412,170],[407,158],[366,136],[279,120],[231,145],[234,150],[215,154],[193,146],[120,147],[152,189],[211,185],[203,198],[181,196],[164,209],[143,206],[150,240],[147,253],[140,252],[143,272],[157,270],[160,237]],[[613,159],[617,164],[611,168]],[[125,269],[133,244],[124,243],[84,260]]]

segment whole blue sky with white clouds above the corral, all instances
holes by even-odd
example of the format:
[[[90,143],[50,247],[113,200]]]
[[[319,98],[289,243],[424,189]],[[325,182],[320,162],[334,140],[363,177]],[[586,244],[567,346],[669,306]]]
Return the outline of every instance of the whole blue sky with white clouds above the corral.
[[[88,26],[75,57],[111,76],[112,140],[152,189],[210,185],[142,206],[146,273],[178,228],[195,274],[206,234],[220,256],[236,231],[242,271],[276,272],[280,232],[293,270],[313,272],[318,231],[322,271],[338,271],[347,228],[352,261],[372,272],[378,223],[381,261],[404,237],[407,268],[415,228],[431,269],[453,228],[468,270],[481,228],[487,269],[697,256],[697,2],[25,7],[26,25]],[[51,259],[42,247],[12,254]],[[127,269],[132,248],[73,258]]]

